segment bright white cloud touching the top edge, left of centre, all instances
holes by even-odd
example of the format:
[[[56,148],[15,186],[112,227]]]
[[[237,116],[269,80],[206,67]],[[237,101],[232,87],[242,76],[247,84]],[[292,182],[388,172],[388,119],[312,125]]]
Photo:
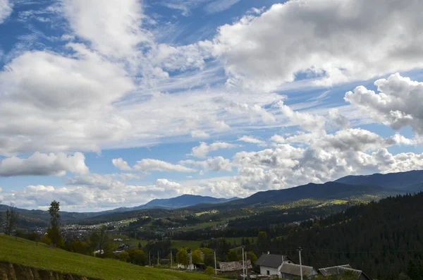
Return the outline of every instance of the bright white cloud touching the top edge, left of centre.
[[[140,43],[150,42],[142,30],[142,6],[137,0],[62,0],[71,28],[92,47],[116,57],[133,56]]]

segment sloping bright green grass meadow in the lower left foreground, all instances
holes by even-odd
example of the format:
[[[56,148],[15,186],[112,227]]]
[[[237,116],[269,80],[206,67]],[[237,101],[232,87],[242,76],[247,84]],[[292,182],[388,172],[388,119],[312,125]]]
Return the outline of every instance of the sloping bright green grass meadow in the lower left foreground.
[[[4,235],[0,235],[0,262],[102,280],[216,279],[205,274],[140,267],[118,260],[106,260],[66,250],[51,249],[41,243],[37,245],[32,241]]]

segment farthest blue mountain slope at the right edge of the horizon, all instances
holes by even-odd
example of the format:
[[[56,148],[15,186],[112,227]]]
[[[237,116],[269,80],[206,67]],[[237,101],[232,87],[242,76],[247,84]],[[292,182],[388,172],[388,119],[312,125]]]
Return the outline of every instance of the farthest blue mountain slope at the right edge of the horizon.
[[[367,176],[345,176],[335,182],[350,185],[380,185],[384,188],[412,191],[423,184],[423,170],[407,172],[372,174]],[[411,188],[411,189],[410,189]]]

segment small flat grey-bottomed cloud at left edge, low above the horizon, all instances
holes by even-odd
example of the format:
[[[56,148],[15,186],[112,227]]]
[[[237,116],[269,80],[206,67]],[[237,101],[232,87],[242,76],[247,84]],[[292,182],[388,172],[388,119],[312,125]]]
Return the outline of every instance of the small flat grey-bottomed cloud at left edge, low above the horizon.
[[[85,157],[80,152],[67,155],[42,154],[36,152],[27,159],[9,157],[0,161],[0,176],[64,176],[69,171],[74,174],[88,173]]]

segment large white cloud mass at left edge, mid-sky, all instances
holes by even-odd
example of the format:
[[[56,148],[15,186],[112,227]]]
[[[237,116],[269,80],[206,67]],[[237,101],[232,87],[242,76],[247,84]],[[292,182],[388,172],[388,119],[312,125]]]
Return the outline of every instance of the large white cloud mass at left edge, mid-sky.
[[[120,64],[80,44],[75,56],[27,51],[0,72],[0,154],[99,151],[130,123],[111,106],[135,87]],[[25,114],[22,114],[25,112]]]

